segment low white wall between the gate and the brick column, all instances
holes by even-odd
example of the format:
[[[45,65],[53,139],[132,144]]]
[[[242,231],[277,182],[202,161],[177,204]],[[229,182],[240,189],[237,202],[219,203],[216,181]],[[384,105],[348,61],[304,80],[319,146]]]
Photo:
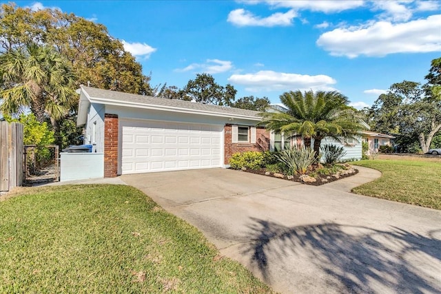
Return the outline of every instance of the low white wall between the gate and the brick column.
[[[103,153],[68,153],[60,154],[60,182],[104,178]]]

